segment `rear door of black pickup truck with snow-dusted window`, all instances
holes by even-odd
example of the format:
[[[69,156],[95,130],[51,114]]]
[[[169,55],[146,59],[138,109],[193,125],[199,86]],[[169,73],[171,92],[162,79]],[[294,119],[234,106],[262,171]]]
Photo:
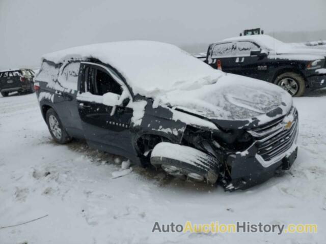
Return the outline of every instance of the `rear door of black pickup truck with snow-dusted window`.
[[[208,64],[214,69],[217,69],[218,62],[220,62],[224,72],[236,73],[237,64],[235,63],[235,55],[235,42],[212,44],[208,50]]]

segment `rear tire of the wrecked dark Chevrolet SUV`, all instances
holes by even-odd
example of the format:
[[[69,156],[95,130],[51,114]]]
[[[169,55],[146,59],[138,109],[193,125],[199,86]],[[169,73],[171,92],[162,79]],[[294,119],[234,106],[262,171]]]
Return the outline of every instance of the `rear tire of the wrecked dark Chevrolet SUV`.
[[[56,128],[53,126],[54,119],[56,119],[56,121],[58,122]],[[46,112],[46,124],[53,140],[55,140],[57,143],[66,144],[67,142],[71,141],[71,137],[68,135],[65,128],[63,127],[59,115],[52,108],[48,109]],[[59,133],[58,129],[60,129],[61,133]]]

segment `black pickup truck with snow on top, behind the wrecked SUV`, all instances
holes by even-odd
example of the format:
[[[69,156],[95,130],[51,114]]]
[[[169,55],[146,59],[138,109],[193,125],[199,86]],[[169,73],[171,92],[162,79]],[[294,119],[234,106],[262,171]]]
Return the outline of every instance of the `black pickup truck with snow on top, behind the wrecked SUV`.
[[[326,51],[298,48],[267,35],[212,43],[205,62],[215,69],[275,83],[291,96],[326,86]]]

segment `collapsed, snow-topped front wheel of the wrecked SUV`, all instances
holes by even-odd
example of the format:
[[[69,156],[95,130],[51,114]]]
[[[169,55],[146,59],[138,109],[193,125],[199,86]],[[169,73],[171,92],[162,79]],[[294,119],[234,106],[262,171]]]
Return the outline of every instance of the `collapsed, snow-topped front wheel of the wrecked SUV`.
[[[196,148],[170,142],[160,142],[154,147],[151,164],[160,166],[170,175],[193,181],[206,180],[209,184],[218,180],[220,168],[216,158]]]

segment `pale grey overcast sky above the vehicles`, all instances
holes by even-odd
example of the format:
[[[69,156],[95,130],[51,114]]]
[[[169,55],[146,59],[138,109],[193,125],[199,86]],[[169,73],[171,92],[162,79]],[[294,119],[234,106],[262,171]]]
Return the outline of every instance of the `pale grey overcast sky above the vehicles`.
[[[325,13],[325,0],[0,0],[0,69],[38,67],[43,53],[99,42],[183,45],[254,27],[318,31]]]

